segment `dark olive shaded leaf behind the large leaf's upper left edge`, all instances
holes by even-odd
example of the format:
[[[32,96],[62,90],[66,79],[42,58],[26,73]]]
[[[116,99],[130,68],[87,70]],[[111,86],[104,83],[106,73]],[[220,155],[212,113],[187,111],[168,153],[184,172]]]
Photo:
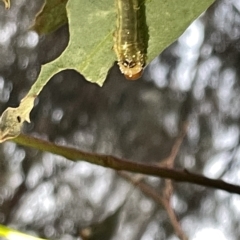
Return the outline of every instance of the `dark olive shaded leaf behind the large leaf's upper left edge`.
[[[68,22],[67,2],[68,0],[46,0],[31,29],[38,34],[48,34],[66,24]]]

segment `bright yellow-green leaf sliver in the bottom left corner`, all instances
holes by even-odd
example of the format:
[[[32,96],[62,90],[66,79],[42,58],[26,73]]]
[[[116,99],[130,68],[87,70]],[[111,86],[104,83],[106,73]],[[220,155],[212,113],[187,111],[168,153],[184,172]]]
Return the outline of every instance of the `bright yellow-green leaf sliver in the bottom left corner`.
[[[0,237],[8,240],[44,240],[43,238],[33,237],[31,235],[18,232],[3,225],[0,225]]]

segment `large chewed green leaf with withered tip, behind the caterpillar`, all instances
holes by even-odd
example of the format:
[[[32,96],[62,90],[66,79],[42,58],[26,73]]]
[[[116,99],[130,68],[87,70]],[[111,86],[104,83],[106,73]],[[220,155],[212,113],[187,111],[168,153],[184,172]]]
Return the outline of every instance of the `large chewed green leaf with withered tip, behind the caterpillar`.
[[[119,0],[120,1],[120,0]],[[176,40],[188,25],[214,0],[146,0],[149,31],[148,62]],[[102,85],[116,60],[113,32],[116,25],[114,0],[68,0],[70,40],[56,60],[43,65],[40,75],[18,108],[8,108],[0,119],[0,142],[17,137],[34,99],[53,75],[74,69],[93,83]]]

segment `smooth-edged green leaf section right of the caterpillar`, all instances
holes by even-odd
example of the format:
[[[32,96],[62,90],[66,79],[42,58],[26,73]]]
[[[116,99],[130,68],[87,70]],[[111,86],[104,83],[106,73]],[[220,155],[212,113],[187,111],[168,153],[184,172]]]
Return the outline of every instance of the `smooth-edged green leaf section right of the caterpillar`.
[[[149,26],[148,62],[177,40],[214,0],[149,0],[146,3]]]

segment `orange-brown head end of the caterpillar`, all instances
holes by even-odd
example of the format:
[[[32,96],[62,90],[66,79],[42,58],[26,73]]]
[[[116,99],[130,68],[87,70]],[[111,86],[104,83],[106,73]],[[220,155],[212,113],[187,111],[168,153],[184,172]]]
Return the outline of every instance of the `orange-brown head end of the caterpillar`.
[[[119,68],[128,80],[137,80],[142,76],[143,64],[135,61],[119,61]]]

